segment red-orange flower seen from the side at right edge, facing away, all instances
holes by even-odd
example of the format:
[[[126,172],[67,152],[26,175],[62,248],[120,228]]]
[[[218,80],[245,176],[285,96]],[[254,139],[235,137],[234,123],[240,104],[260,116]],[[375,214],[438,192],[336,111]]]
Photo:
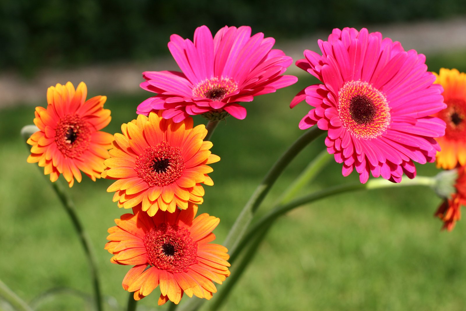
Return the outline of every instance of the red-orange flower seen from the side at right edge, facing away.
[[[455,181],[455,193],[452,193],[450,198],[445,198],[442,204],[435,212],[435,216],[439,217],[444,225],[442,229],[451,231],[461,218],[460,207],[466,205],[466,172],[465,166],[459,167],[457,170],[458,178]]]

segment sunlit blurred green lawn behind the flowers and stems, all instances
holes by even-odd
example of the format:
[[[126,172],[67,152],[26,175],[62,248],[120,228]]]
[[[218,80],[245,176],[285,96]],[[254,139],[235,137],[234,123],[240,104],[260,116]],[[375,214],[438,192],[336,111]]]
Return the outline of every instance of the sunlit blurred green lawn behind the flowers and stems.
[[[466,52],[433,55],[428,57],[429,68],[464,71],[458,64],[465,56]],[[314,80],[302,76],[287,89],[256,97],[247,104],[245,120],[230,117],[219,124],[212,152],[221,161],[212,165],[215,185],[205,186],[199,209],[220,217],[214,231],[217,242],[224,240],[275,159],[301,135],[297,124],[309,106],[303,103],[290,110],[288,103],[310,83]],[[89,96],[99,95],[88,87]],[[45,93],[37,104],[45,105]],[[120,131],[148,95],[143,90],[133,96],[108,95],[105,106],[113,119],[105,130]],[[74,229],[37,166],[26,163],[19,132],[33,117],[31,105],[1,111],[0,279],[26,301],[57,287],[89,293],[88,266]],[[322,148],[323,137],[290,164],[259,214]],[[417,167],[419,175],[438,173],[433,164]],[[343,178],[341,165],[331,161],[306,192],[357,180],[356,174]],[[117,310],[116,305],[127,301],[121,281],[129,267],[111,264],[103,246],[113,219],[126,211],[105,191],[110,183],[84,179],[69,193],[96,250],[109,302],[106,310]],[[222,310],[464,310],[466,225],[459,222],[453,232],[440,232],[441,222],[432,216],[439,203],[430,189],[407,187],[348,193],[296,209],[270,231]],[[157,291],[144,298],[138,310],[166,309],[157,307]],[[46,299],[39,310],[90,308],[80,298],[61,294]]]

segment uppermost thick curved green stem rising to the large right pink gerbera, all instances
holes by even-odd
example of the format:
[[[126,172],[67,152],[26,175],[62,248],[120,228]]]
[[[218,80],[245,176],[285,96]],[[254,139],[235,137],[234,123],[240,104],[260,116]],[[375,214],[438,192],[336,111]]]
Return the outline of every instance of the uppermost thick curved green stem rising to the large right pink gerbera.
[[[243,207],[240,215],[236,219],[231,228],[230,232],[226,236],[226,240],[223,245],[231,252],[236,249],[238,242],[245,234],[247,227],[251,223],[254,213],[259,207],[262,200],[274,184],[275,180],[280,176],[285,167],[291,162],[292,159],[309,143],[317,138],[323,131],[317,126],[313,126],[310,130],[305,132],[300,138],[298,138],[288,150],[281,155],[281,157],[275,162],[274,166],[270,168],[267,175],[264,177],[260,185],[254,191],[249,201]]]

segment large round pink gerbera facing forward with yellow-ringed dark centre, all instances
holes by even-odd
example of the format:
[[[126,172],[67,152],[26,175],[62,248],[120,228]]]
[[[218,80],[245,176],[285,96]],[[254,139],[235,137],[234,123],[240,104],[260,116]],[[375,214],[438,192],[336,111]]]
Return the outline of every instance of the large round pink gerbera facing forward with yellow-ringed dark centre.
[[[304,99],[315,107],[299,127],[328,131],[325,145],[343,175],[356,168],[362,183],[370,173],[399,182],[416,175],[413,161],[433,162],[445,122],[430,115],[445,104],[425,56],[366,28],[334,29],[319,46],[322,55],[306,50],[296,65],[323,84],[301,91],[291,107]]]

